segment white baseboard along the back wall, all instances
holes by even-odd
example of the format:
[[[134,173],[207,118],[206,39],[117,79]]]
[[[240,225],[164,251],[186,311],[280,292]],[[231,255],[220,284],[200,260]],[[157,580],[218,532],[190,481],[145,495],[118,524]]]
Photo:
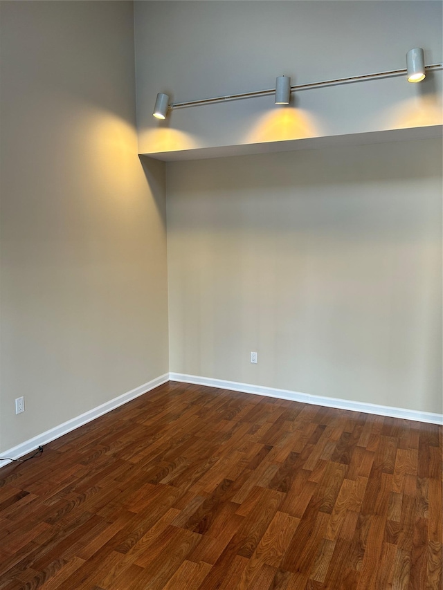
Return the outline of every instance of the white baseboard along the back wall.
[[[212,379],[208,377],[199,377],[182,373],[170,373],[169,377],[171,381],[181,381],[183,383],[193,383],[195,385],[208,385],[208,387],[231,389],[232,391],[243,391],[245,394],[256,394],[259,396],[268,396],[270,398],[280,398],[301,403],[323,405],[325,407],[349,409],[352,412],[365,412],[366,414],[377,414],[379,416],[389,416],[391,418],[404,418],[404,420],[414,420],[431,424],[443,424],[443,414],[419,412],[415,409],[390,407],[388,405],[356,402],[338,398],[327,398],[322,396],[313,396],[310,394],[300,394],[298,391],[290,391],[288,389],[260,387],[260,385],[248,385],[248,383],[224,381],[221,379]]]

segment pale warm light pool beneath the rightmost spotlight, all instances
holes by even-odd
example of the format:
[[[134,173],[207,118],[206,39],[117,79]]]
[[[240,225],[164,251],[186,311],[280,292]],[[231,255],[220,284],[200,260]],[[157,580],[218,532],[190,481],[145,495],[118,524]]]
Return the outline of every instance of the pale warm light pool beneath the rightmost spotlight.
[[[436,95],[415,96],[397,104],[382,119],[383,129],[442,125],[442,103]]]

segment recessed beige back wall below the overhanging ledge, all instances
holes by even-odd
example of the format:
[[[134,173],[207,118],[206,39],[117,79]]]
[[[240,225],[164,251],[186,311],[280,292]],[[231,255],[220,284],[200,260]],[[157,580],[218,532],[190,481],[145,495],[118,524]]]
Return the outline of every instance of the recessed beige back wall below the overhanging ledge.
[[[170,371],[442,412],[439,140],[168,163],[167,192]]]

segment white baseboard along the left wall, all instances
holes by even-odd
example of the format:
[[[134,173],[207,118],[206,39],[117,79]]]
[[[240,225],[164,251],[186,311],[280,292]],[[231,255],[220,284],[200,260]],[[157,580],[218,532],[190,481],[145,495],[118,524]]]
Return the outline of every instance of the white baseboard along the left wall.
[[[29,439],[24,443],[20,443],[16,447],[12,447],[12,449],[0,453],[0,455],[2,457],[10,457],[11,459],[19,459],[29,452],[39,448],[39,446],[46,445],[47,443],[58,439],[59,436],[63,436],[64,434],[71,432],[71,430],[75,430],[75,428],[91,422],[91,420],[98,418],[98,416],[102,416],[102,414],[111,412],[111,409],[116,409],[116,407],[119,407],[120,405],[123,405],[134,398],[138,398],[138,396],[141,396],[147,391],[154,389],[154,387],[163,385],[163,383],[166,383],[169,380],[169,374],[165,373],[164,375],[161,375],[160,377],[145,383],[145,385],[136,387],[136,389],[132,389],[126,394],[118,396],[112,400],[109,400],[108,402],[102,403],[102,405],[98,405],[97,407],[90,409],[88,412],[80,414],[80,416],[71,418],[71,420],[51,428],[51,430],[46,430],[46,432],[42,432],[42,434],[37,434],[37,436],[34,436],[32,439]],[[8,461],[7,459],[0,460],[0,468],[3,467],[3,465],[8,465],[8,463],[11,463],[11,461]]]

